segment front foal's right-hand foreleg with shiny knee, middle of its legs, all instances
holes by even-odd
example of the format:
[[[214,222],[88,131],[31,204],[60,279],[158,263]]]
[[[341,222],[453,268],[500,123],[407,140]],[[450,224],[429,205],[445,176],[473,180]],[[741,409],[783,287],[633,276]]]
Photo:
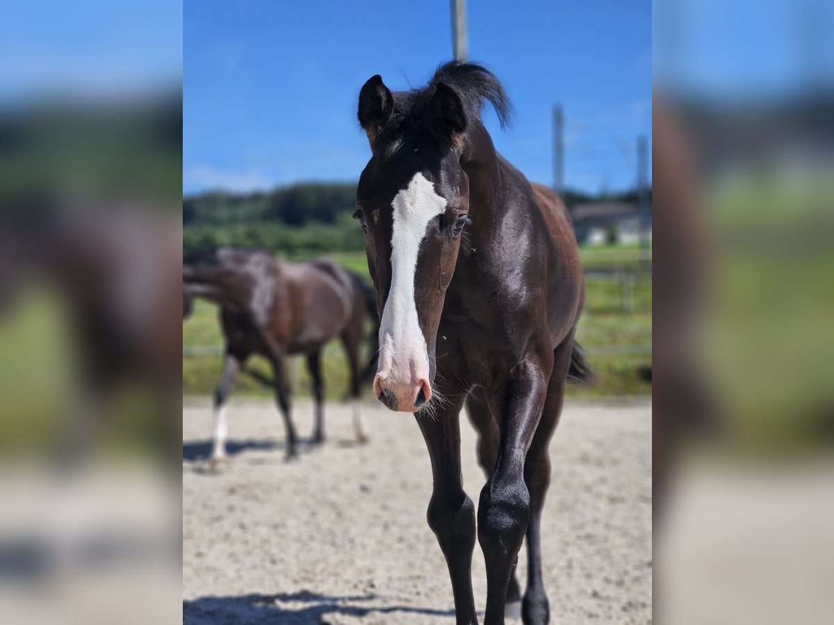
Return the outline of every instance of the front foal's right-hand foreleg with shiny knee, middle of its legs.
[[[510,576],[530,520],[530,493],[524,480],[527,448],[545,406],[550,362],[525,359],[490,408],[500,415],[501,439],[495,471],[480,492],[478,540],[486,562],[485,625],[500,625]]]

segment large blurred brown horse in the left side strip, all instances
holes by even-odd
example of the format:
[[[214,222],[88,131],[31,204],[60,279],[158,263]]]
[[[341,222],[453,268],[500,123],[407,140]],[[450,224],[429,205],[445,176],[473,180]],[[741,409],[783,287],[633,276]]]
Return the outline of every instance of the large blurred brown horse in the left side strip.
[[[179,219],[156,206],[49,208],[0,224],[0,318],[28,288],[44,288],[68,332],[73,385],[59,415],[62,467],[91,456],[131,388],[148,442],[178,470],[181,250]]]

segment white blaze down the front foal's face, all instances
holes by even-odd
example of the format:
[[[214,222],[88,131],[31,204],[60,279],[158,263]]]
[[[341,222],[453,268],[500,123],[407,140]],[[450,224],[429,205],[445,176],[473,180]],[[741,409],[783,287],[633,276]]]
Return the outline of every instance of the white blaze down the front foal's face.
[[[391,207],[394,208],[391,288],[379,326],[379,373],[387,378],[396,374],[394,369],[403,368],[397,377],[405,382],[402,378],[429,373],[425,338],[414,303],[414,273],[426,228],[445,211],[446,199],[435,193],[435,185],[422,173],[416,173],[408,186],[394,196]],[[418,364],[415,358],[425,360],[425,371],[409,370]]]

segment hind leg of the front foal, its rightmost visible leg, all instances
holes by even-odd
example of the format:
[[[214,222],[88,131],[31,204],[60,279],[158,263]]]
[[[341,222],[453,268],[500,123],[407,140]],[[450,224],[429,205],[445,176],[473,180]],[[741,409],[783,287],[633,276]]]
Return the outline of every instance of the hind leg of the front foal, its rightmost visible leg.
[[[550,437],[559,423],[565,398],[565,378],[570,368],[573,334],[554,353],[553,373],[547,387],[545,408],[525,461],[524,479],[530,492],[530,523],[527,525],[527,588],[521,607],[525,625],[550,622],[550,604],[541,573],[541,511],[550,486]]]

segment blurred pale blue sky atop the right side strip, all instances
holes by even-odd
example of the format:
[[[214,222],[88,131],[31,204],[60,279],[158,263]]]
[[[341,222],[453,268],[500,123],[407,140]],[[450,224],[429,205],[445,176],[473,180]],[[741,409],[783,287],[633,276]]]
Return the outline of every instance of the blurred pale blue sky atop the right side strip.
[[[781,97],[834,81],[826,0],[659,0],[656,85],[717,102]]]

